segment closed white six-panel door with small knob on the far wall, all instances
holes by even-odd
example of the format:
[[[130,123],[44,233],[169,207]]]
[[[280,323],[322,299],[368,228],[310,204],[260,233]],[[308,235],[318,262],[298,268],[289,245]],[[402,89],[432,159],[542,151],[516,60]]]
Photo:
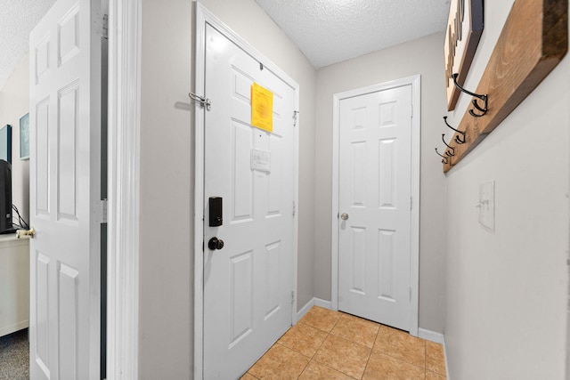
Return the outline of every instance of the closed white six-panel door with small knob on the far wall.
[[[338,309],[410,330],[411,85],[339,101]]]

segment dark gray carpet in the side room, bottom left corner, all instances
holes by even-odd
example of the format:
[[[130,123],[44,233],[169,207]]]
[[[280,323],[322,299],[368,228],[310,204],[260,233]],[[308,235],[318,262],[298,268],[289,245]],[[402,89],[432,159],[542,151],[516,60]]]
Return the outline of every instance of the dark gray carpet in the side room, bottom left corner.
[[[28,380],[28,356],[28,328],[0,337],[0,380]]]

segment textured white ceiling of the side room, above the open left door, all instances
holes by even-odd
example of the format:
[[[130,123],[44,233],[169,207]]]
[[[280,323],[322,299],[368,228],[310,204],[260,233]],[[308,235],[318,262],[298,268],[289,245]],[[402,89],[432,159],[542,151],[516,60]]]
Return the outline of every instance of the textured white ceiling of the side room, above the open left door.
[[[28,53],[29,32],[55,0],[0,0],[0,88]]]

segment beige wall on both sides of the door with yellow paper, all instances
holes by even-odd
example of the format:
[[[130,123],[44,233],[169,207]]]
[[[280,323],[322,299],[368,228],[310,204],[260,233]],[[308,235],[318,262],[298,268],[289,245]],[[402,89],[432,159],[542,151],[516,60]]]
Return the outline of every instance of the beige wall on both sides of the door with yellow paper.
[[[254,0],[203,1],[209,11],[292,77],[300,96],[298,302],[314,296],[316,73]],[[142,379],[193,372],[194,3],[142,0],[140,356]],[[172,231],[172,232],[169,232]],[[183,231],[178,233],[174,231]]]

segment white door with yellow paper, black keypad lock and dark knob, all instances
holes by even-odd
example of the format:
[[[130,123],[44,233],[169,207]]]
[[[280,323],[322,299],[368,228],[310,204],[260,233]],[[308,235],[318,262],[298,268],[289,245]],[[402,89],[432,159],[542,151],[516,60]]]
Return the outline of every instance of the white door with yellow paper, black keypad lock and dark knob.
[[[205,38],[203,376],[231,379],[292,322],[295,90],[209,24]],[[251,125],[254,83],[273,93],[271,133]]]

